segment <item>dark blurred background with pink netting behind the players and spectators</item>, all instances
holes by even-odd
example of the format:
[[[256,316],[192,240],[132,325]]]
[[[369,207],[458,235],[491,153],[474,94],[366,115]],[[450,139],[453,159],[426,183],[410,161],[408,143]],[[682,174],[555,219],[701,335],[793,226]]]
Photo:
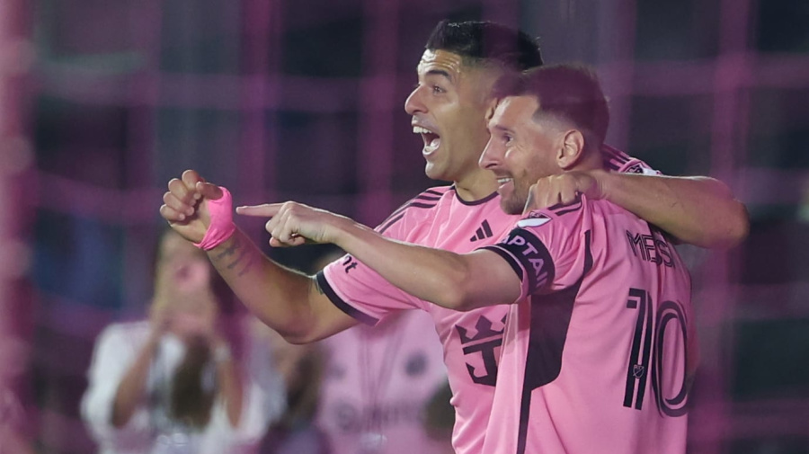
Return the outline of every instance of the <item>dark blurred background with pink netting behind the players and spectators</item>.
[[[743,245],[682,251],[702,351],[689,452],[809,453],[806,0],[0,0],[0,429],[93,452],[93,340],[145,311],[182,170],[237,204],[370,225],[431,185],[403,105],[444,18],[517,25],[547,62],[594,65],[611,145],[747,204]]]

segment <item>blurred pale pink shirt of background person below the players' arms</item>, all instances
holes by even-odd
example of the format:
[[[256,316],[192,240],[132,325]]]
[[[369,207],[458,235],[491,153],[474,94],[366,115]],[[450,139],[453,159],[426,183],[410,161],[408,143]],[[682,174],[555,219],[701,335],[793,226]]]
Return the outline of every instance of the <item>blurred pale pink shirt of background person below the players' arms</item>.
[[[339,259],[329,254],[316,269]],[[324,339],[325,372],[316,423],[334,454],[452,452],[449,432],[427,427],[428,407],[449,408],[447,370],[431,317],[416,310]],[[437,408],[437,409],[436,409]]]

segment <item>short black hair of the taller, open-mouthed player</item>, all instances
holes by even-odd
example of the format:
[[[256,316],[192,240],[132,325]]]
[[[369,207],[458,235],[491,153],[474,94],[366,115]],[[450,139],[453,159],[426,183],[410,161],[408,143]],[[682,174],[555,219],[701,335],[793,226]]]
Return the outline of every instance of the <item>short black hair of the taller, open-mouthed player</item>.
[[[441,21],[424,49],[447,50],[465,58],[467,64],[495,62],[517,71],[542,66],[537,40],[495,22]]]

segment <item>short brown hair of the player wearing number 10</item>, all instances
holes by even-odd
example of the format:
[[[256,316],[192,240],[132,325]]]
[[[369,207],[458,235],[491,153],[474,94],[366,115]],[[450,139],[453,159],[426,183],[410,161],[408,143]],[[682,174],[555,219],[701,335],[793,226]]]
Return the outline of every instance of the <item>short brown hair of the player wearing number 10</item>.
[[[601,147],[609,126],[607,98],[591,67],[565,64],[531,69],[521,75],[503,75],[494,85],[493,96],[536,96],[539,108],[534,118],[550,115],[582,129],[585,146]],[[594,143],[587,144],[588,136]]]

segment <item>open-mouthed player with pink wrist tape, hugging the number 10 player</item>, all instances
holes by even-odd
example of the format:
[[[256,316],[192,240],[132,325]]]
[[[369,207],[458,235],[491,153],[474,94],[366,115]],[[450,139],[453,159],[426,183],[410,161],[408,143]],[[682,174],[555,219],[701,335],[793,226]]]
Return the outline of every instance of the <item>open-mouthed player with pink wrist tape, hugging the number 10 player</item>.
[[[489,138],[485,116],[493,107],[488,94],[494,81],[507,71],[539,65],[538,47],[523,33],[490,22],[441,22],[436,27],[405,110],[413,116],[413,131],[424,139],[426,173],[454,184],[429,189],[405,203],[380,224],[382,235],[466,253],[492,244],[513,227],[518,218],[502,213],[498,183],[477,161]],[[695,245],[733,245],[746,235],[745,211],[723,183],[618,174],[642,164],[604,150],[605,161],[616,172],[542,181],[543,193],[565,198],[577,190],[597,191]],[[428,311],[444,347],[453,390],[453,446],[460,454],[482,449],[508,307],[463,313],[437,307],[396,289],[351,257],[333,263],[317,279],[285,269],[233,226],[228,196],[193,171],[169,182],[160,211],[182,236],[204,240],[201,245],[238,297],[290,342],[315,341],[358,322],[373,325],[404,309]]]

